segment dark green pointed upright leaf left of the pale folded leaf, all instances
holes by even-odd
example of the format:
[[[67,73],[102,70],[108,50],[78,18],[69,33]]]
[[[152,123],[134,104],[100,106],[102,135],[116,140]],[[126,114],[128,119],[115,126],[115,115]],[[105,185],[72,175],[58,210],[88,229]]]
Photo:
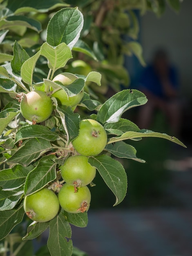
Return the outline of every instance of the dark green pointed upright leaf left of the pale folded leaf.
[[[29,55],[25,51],[25,49],[22,48],[22,46],[15,41],[13,45],[13,59],[11,61],[11,67],[13,70],[13,73],[17,76],[20,76],[20,70],[25,61],[29,59]]]

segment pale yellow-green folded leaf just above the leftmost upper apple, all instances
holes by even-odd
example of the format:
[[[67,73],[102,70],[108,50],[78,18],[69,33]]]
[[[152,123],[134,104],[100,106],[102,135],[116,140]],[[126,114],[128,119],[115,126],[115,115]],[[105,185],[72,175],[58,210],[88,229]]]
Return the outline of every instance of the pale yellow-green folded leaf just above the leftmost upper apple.
[[[27,61],[25,61],[21,67],[22,80],[29,85],[32,85],[33,71],[35,69],[35,65],[39,56],[40,51],[33,55],[31,58],[29,58]]]

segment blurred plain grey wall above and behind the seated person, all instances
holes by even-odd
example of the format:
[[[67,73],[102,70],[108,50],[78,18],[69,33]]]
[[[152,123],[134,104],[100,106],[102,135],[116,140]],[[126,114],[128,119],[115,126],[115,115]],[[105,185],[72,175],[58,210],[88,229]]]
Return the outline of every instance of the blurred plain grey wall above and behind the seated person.
[[[169,7],[161,18],[153,13],[141,17],[143,55],[150,61],[154,49],[165,47],[179,70],[181,94],[192,98],[192,0],[184,0],[179,14]]]

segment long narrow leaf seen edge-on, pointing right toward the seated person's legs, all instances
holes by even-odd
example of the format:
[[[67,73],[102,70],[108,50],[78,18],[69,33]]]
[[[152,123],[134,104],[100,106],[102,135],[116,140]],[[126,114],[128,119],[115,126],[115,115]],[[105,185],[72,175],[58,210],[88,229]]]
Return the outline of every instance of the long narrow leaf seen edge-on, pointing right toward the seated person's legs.
[[[168,139],[176,144],[179,144],[181,146],[183,146],[184,148],[186,148],[186,146],[176,137],[172,137],[170,135],[167,135],[165,133],[159,133],[159,132],[153,132],[151,130],[140,130],[139,132],[125,132],[123,133],[123,135],[118,136],[118,137],[112,137],[109,139],[109,141],[107,142],[107,144],[116,142],[116,141],[121,141],[121,140],[125,140],[125,139],[134,139],[134,138],[139,138],[139,137],[158,137],[158,138],[163,138],[163,139]]]

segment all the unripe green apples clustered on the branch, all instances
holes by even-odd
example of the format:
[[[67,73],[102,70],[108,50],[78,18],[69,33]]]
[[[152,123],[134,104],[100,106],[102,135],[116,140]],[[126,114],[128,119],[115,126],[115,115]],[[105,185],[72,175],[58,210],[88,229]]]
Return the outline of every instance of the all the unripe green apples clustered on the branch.
[[[67,73],[67,76],[56,76],[53,81],[67,86],[76,79],[75,75]],[[82,99],[83,91],[74,97],[68,97],[65,90],[60,89],[51,96],[58,100],[58,104],[73,107]],[[53,103],[45,92],[31,91],[21,100],[20,110],[23,117],[36,124],[49,118]],[[78,137],[72,141],[75,153],[59,167],[65,184],[61,187],[58,197],[48,188],[27,195],[24,200],[27,216],[37,222],[46,222],[56,216],[60,206],[69,213],[88,211],[91,193],[87,185],[96,175],[96,168],[91,166],[88,160],[90,156],[101,153],[106,143],[107,134],[101,124],[93,119],[80,121]]]

